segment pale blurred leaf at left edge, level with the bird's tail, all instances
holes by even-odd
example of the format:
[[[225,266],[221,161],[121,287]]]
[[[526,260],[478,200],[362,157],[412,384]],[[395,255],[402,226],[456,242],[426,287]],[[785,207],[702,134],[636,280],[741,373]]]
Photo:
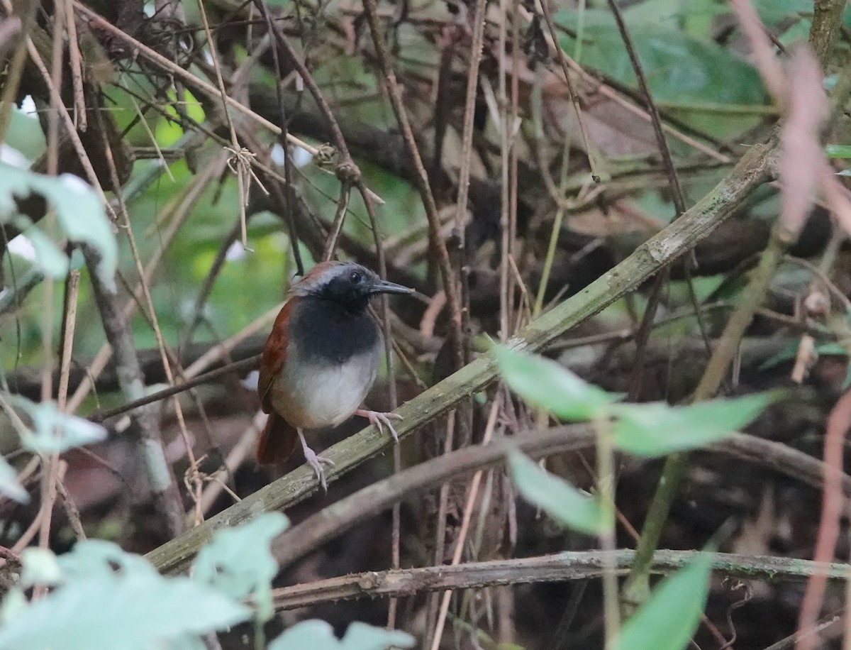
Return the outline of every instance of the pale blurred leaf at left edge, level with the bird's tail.
[[[106,429],[100,424],[60,413],[54,402],[36,404],[20,395],[8,395],[6,399],[30,417],[32,430],[21,429],[19,434],[21,443],[31,452],[61,453],[106,439]]]

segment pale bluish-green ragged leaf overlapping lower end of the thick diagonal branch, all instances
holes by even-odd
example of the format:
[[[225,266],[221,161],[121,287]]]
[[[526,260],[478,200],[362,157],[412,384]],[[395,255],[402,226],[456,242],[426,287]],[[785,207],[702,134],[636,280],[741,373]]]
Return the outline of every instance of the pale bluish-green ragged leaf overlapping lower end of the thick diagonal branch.
[[[198,553],[193,577],[237,601],[253,595],[258,617],[266,622],[274,614],[271,580],[278,572],[269,546],[288,526],[284,515],[271,512],[216,532]]]

